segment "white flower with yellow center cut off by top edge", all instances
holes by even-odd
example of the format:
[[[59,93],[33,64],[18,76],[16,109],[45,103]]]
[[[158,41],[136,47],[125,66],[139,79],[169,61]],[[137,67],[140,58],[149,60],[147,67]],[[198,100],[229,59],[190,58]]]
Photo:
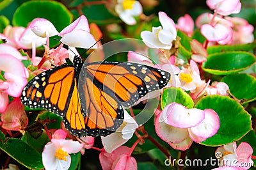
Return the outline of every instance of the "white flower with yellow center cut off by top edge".
[[[115,11],[125,24],[134,25],[136,24],[134,17],[142,13],[142,6],[139,1],[118,0]]]

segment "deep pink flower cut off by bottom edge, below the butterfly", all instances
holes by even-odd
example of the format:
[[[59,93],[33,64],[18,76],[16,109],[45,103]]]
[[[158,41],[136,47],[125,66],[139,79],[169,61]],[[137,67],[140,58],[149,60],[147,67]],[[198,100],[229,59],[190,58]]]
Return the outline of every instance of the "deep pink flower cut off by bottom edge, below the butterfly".
[[[112,153],[101,152],[99,158],[102,169],[138,169],[137,162],[134,157],[131,157],[130,152],[131,148],[127,146],[120,146]]]

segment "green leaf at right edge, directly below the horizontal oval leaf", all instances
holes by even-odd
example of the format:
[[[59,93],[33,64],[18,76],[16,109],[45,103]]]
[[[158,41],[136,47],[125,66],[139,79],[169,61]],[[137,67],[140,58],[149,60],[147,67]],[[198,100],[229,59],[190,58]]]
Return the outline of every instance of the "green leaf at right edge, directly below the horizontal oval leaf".
[[[256,99],[256,79],[246,73],[231,74],[221,80],[228,84],[229,90],[237,99],[244,99],[244,103],[252,102]]]

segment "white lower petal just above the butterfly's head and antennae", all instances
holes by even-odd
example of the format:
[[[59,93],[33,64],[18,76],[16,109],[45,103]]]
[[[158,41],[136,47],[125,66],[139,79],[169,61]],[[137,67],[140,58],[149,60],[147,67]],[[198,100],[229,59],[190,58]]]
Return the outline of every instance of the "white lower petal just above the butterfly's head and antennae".
[[[80,47],[84,49],[97,49],[97,44],[94,37],[88,32],[82,29],[75,29],[72,32],[62,36],[61,42],[71,46],[71,47]],[[93,45],[93,47],[92,47]]]

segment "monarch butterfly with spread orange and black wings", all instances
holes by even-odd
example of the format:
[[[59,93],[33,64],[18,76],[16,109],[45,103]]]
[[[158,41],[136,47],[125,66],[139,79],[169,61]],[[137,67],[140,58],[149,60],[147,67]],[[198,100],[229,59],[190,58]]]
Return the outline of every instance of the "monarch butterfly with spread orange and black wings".
[[[65,127],[78,137],[115,132],[124,119],[123,106],[135,104],[170,80],[170,73],[138,63],[102,61],[83,66],[79,56],[73,62],[36,75],[20,98],[28,107],[62,116]]]

